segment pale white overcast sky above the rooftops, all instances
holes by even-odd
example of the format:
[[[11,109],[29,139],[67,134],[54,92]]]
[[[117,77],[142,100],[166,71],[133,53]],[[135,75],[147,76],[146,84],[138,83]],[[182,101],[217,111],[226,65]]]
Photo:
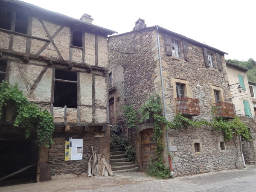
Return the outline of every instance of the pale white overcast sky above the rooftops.
[[[254,0],[23,0],[76,19],[87,13],[93,24],[130,32],[138,18],[221,51],[225,58],[256,61]]]

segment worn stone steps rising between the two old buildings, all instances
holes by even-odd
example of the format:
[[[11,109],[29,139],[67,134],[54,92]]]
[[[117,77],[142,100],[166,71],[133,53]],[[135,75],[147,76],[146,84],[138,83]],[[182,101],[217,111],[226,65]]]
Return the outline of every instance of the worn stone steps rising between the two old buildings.
[[[125,151],[121,151],[117,145],[110,148],[110,165],[113,173],[137,171],[137,164],[128,162]]]

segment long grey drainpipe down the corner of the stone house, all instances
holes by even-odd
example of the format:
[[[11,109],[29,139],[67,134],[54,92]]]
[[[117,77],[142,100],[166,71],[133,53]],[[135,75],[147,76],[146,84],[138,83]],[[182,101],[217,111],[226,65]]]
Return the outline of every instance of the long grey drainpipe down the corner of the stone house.
[[[162,87],[162,99],[163,99],[163,114],[164,114],[165,118],[167,119],[166,105],[165,105],[165,95],[164,95],[164,86],[163,86],[163,71],[162,71],[162,59],[161,59],[161,52],[160,52],[160,41],[159,41],[158,26],[156,28],[157,28],[157,46],[158,46],[159,67],[160,67],[160,76],[161,76],[161,87]],[[170,166],[170,170],[171,170],[171,176],[173,177],[172,160],[171,160],[170,147],[169,147],[169,136],[168,136],[167,131],[166,131],[166,142],[167,142],[167,149],[168,149],[169,166]]]

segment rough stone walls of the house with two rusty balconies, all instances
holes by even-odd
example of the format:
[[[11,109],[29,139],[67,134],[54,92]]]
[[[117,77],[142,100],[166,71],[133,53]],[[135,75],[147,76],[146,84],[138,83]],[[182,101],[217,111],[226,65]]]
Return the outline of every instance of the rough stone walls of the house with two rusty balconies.
[[[186,40],[188,41],[189,59],[185,60],[183,54],[181,54],[181,58],[168,56],[166,55],[164,35],[160,32],[167,119],[172,121],[175,116],[174,98],[177,97],[175,86],[177,82],[185,84],[187,97],[199,99],[201,114],[189,118],[211,121],[213,117],[212,104],[215,103],[213,95],[215,89],[220,91],[221,101],[232,103],[223,53],[221,53],[223,70],[218,70],[217,67],[206,67],[203,45],[200,46],[189,40]],[[175,36],[175,40],[177,40],[177,36]],[[182,40],[179,39],[178,41],[181,43]],[[119,112],[123,105],[140,108],[149,96],[158,93],[162,97],[156,30],[151,27],[111,36],[108,46],[110,49],[114,49],[109,50],[108,55],[109,70],[113,76],[113,87],[116,87],[116,92],[113,94],[119,97],[119,102],[116,102],[117,124],[125,126],[124,116]],[[183,49],[180,48],[182,52]],[[137,147],[137,159],[141,161],[140,134],[137,135],[136,131],[126,128],[122,128],[122,130],[125,131],[130,140],[138,137],[134,146]],[[163,143],[166,144],[165,134],[163,134],[162,139]],[[174,156],[175,175],[235,169],[242,165],[239,143],[237,141],[236,143],[234,141],[226,142],[227,149],[220,151],[219,142],[224,140],[224,136],[210,128],[169,131],[169,139],[172,156]],[[201,143],[202,151],[200,154],[193,153],[192,143],[196,141]],[[165,149],[163,151],[164,163],[168,167],[166,154]]]

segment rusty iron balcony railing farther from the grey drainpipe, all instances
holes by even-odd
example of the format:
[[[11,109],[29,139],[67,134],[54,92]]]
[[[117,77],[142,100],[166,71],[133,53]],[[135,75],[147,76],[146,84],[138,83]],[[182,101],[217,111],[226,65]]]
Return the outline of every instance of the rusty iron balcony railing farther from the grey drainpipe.
[[[233,103],[214,103],[213,110],[216,117],[233,118],[235,116]]]

